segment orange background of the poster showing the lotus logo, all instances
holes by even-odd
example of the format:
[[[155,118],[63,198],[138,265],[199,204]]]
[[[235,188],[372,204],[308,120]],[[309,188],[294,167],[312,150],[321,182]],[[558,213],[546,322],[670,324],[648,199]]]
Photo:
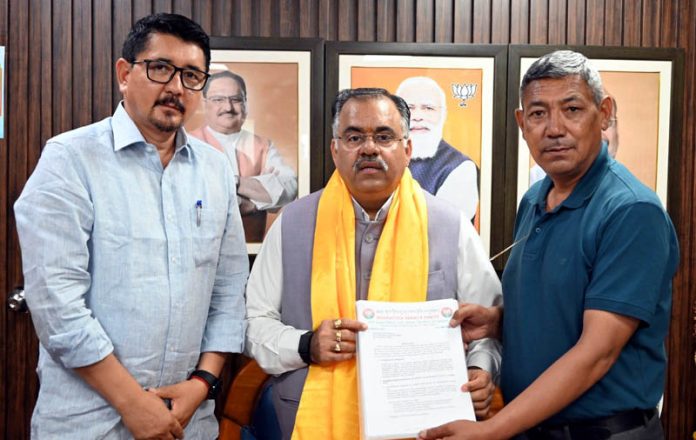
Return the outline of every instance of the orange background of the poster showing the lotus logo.
[[[427,76],[445,92],[447,120],[442,136],[453,147],[481,166],[481,69],[431,69],[405,67],[352,67],[351,87],[382,87],[394,93],[401,81],[411,76]],[[452,94],[452,84],[477,84],[476,94],[460,107]]]

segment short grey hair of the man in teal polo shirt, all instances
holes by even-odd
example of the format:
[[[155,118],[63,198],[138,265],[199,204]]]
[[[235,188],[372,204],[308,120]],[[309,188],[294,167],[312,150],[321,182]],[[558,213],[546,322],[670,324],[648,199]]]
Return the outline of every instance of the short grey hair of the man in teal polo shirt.
[[[599,105],[604,97],[599,72],[585,55],[572,50],[557,50],[534,61],[522,78],[520,102],[523,102],[524,91],[532,81],[565,78],[572,75],[578,75],[585,81],[592,91],[595,104]]]

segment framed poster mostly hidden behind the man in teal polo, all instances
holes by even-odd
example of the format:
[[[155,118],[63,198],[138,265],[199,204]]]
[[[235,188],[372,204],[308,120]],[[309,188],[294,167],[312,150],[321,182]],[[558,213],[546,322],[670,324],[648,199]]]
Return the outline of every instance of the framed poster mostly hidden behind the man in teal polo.
[[[524,73],[540,56],[557,49],[581,52],[599,71],[615,113],[603,132],[609,153],[641,182],[653,189],[674,215],[669,195],[678,187],[680,109],[683,94],[683,54],[678,49],[510,46],[508,77],[508,188],[514,194],[506,203],[506,221],[512,236],[514,213],[524,193],[544,172],[534,163],[514,118],[519,108],[519,88]],[[671,165],[671,166],[670,166]],[[512,206],[514,204],[514,206]],[[671,208],[671,209],[670,209]]]

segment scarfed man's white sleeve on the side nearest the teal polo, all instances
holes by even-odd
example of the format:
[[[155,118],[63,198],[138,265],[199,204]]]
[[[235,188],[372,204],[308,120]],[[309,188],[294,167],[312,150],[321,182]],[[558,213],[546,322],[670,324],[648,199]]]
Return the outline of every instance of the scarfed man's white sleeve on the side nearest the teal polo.
[[[503,303],[500,279],[493,269],[481,239],[464,216],[459,229],[457,300],[460,303],[475,303],[490,307]],[[501,345],[495,339],[481,339],[469,344],[467,365],[491,373],[498,382],[501,363]]]

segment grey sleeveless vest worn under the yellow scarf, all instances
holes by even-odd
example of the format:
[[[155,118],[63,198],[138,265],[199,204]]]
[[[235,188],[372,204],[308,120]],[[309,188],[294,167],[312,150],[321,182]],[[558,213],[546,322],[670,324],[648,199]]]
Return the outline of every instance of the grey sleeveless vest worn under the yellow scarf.
[[[283,296],[281,302],[281,321],[297,329],[312,329],[311,278],[312,250],[314,247],[314,228],[317,208],[322,191],[303,197],[283,209]],[[459,254],[459,211],[427,192],[425,195],[428,210],[428,300],[455,298],[457,292],[457,255]],[[356,242],[364,240],[366,251],[356,243],[356,271],[360,272],[360,260],[374,258],[374,248],[381,233],[381,223],[376,234],[368,232],[361,236],[356,222]],[[372,244],[373,246],[369,246]],[[371,253],[371,254],[370,254]],[[368,268],[369,270],[369,268]],[[364,275],[369,283],[369,274]],[[360,290],[361,280],[357,280]],[[366,287],[363,287],[366,290]],[[295,415],[307,377],[307,367],[290,371],[274,378],[273,404],[283,439],[289,439],[295,424]]]

